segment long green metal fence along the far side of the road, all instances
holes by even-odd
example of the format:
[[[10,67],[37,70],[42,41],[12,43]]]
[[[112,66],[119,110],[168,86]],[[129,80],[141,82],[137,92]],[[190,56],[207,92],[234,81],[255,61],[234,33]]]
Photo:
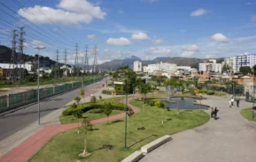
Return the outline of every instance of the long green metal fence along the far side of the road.
[[[45,97],[50,97],[51,95],[58,94],[61,92],[67,92],[75,88],[81,87],[81,85],[89,85],[94,82],[103,79],[103,77],[97,77],[95,79],[85,80],[83,82],[75,82],[72,84],[65,84],[65,85],[56,85],[48,88],[41,88],[39,89],[39,97],[40,99]],[[9,98],[7,95],[0,96],[0,108],[8,107],[8,99],[9,99],[9,107],[15,105],[26,105],[26,103],[31,102],[37,99],[37,90],[32,90],[29,92],[19,92],[10,94]]]

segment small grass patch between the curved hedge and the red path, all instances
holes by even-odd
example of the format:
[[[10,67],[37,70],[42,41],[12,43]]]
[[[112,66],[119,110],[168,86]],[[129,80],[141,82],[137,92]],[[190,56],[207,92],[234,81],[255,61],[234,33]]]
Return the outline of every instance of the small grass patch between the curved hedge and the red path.
[[[124,111],[121,110],[112,110],[112,115],[114,114],[120,114],[123,113]],[[100,118],[105,118],[106,115],[104,114],[104,109],[93,109],[93,110],[89,110],[86,113],[82,114],[83,117],[89,118],[90,120],[95,120],[95,119],[100,119]],[[82,118],[78,119],[75,118],[73,115],[68,115],[68,116],[59,116],[59,122],[62,124],[66,124],[66,123],[71,123],[71,122],[82,122]]]

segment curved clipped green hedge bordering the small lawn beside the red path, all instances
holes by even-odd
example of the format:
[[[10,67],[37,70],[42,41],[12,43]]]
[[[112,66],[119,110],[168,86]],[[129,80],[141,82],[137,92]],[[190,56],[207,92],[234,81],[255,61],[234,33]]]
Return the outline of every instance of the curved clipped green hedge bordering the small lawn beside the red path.
[[[80,105],[76,108],[73,107],[68,107],[66,108],[66,110],[64,110],[62,112],[62,115],[66,116],[66,115],[72,115],[74,114],[74,112],[76,111],[80,111],[82,113],[85,113],[91,109],[104,109],[105,108],[105,103],[87,103],[87,104],[83,104]],[[125,104],[120,103],[120,102],[111,102],[111,108],[112,110],[123,110],[125,111]]]

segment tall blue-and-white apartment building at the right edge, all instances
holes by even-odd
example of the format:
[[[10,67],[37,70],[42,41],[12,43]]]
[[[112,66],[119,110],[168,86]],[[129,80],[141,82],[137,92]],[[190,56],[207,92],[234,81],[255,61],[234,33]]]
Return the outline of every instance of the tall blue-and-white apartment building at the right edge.
[[[251,68],[256,64],[256,54],[245,53],[233,57],[234,66],[233,71],[237,72],[242,66],[250,66]]]

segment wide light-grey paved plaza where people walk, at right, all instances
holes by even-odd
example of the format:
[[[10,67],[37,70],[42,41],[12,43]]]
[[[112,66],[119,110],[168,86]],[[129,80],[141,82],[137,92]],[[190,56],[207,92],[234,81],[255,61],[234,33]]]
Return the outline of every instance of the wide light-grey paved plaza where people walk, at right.
[[[228,99],[207,96],[203,104],[218,107],[220,119],[173,135],[173,140],[151,151],[141,162],[255,162],[256,128],[239,112],[252,107],[240,101],[229,108]],[[207,110],[209,113],[210,110]]]

